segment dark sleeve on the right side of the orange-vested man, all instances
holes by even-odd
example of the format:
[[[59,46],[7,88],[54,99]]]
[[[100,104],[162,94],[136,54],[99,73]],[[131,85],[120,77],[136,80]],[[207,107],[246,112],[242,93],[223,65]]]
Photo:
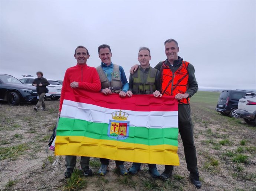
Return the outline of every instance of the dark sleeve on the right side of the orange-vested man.
[[[192,64],[188,65],[188,89],[186,93],[189,94],[188,97],[192,97],[198,90],[198,84],[195,76],[195,68]]]

